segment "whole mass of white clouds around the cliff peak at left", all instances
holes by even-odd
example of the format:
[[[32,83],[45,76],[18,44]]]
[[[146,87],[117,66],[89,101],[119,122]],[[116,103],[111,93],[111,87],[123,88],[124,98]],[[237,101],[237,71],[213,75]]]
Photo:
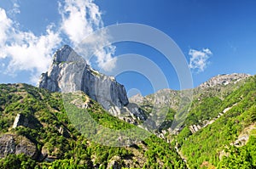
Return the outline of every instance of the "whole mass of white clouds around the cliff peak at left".
[[[8,65],[5,65],[6,74],[30,71],[32,83],[47,70],[52,54],[66,37],[70,45],[77,47],[85,37],[103,26],[100,9],[92,0],[59,2],[59,25],[48,25],[40,36],[32,31],[20,31],[19,23],[8,14],[20,14],[19,4],[14,3],[11,11],[0,8],[0,61],[9,59]],[[114,65],[108,65],[108,62],[113,59],[114,47],[100,48],[101,44],[108,42],[107,36],[99,36],[98,40],[97,45],[91,43],[91,47],[97,51],[96,63],[104,70],[112,69]],[[79,54],[86,56],[86,48],[79,50]]]

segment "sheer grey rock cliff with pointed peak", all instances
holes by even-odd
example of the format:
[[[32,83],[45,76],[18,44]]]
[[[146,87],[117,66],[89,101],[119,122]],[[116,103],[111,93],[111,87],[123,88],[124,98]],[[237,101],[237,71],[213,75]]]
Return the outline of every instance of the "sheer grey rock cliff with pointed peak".
[[[126,109],[129,101],[123,85],[116,82],[113,76],[105,76],[90,68],[90,65],[67,45],[54,54],[49,70],[39,79],[38,87],[50,92],[83,91],[113,115],[128,112],[141,120],[145,119],[145,115],[140,112]]]

